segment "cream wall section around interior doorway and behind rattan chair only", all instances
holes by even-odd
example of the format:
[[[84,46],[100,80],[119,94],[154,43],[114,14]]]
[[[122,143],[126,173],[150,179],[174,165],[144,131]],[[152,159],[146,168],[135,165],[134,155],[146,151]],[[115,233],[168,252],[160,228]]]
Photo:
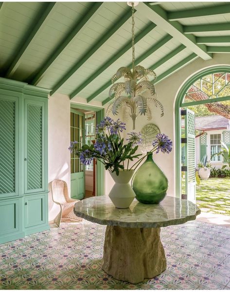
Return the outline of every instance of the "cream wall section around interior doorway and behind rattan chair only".
[[[67,182],[70,191],[70,107],[69,96],[54,94],[49,97],[49,121],[48,121],[48,182],[49,182],[49,221],[53,220],[60,208],[53,203],[51,193],[51,182],[54,179],[61,179]],[[87,104],[84,98],[77,98],[77,103]],[[94,101],[90,103],[101,107],[101,103]],[[119,118],[119,116],[117,117]],[[108,194],[113,186],[113,180],[109,173],[105,174],[105,193]]]

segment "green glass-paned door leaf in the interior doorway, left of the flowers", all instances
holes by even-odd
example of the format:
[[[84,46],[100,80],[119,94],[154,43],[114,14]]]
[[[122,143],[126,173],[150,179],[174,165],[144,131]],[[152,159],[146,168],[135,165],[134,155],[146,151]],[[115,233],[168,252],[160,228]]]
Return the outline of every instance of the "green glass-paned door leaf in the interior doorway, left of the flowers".
[[[82,147],[85,139],[85,114],[71,109],[71,141]],[[85,197],[85,167],[79,156],[71,153],[71,198],[81,200]]]

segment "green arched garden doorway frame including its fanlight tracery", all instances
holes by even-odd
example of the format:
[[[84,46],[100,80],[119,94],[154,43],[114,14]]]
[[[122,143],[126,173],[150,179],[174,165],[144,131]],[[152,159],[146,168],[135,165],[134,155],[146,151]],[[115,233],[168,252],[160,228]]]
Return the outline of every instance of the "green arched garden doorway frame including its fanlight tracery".
[[[188,91],[191,87],[201,80],[203,77],[212,74],[212,78],[226,78],[225,82],[228,82],[230,85],[230,66],[220,65],[205,68],[195,74],[193,74],[189,79],[187,79],[184,84],[181,86],[180,90],[177,93],[177,99],[175,103],[175,131],[176,131],[176,194],[178,198],[181,198],[181,131],[180,131],[180,121],[181,121],[181,109],[187,109],[188,106],[211,104],[215,102],[228,101],[230,100],[230,94],[207,94],[208,98],[198,101],[191,101],[188,96]],[[221,75],[222,74],[222,75]],[[192,92],[193,93],[193,92]],[[212,92],[213,93],[213,92]]]

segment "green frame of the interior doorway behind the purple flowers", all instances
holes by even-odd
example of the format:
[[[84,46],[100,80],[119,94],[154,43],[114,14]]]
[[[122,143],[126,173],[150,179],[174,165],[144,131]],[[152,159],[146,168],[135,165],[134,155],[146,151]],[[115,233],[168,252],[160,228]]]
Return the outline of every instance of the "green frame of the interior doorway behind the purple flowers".
[[[105,109],[99,108],[90,105],[84,105],[79,103],[71,102],[71,108],[79,110],[88,110],[96,112],[96,124],[99,124],[101,120],[105,117]],[[96,195],[104,196],[105,195],[105,167],[104,165],[97,161],[96,164]]]

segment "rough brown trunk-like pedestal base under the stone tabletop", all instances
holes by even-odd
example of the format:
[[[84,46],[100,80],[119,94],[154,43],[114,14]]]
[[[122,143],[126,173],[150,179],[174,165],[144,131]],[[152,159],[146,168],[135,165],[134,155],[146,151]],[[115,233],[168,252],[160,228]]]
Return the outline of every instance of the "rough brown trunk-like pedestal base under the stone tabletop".
[[[161,274],[166,258],[160,228],[107,226],[102,269],[133,284]]]

